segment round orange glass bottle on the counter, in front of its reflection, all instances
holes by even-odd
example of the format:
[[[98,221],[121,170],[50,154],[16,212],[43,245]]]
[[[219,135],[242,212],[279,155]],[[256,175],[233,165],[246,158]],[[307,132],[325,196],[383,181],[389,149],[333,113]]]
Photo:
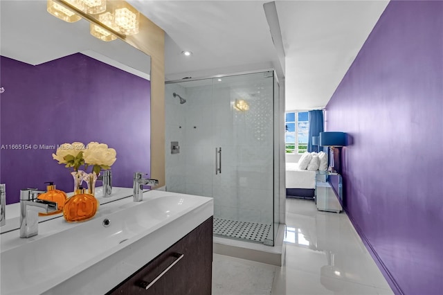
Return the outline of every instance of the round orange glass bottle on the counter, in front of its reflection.
[[[67,222],[80,222],[89,220],[96,215],[98,200],[87,193],[84,188],[80,188],[75,195],[66,200],[63,206],[63,217]]]

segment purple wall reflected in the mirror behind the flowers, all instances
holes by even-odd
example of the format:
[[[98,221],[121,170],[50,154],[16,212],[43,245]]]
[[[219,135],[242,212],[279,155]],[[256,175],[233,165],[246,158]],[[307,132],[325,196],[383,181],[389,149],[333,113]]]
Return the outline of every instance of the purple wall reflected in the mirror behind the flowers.
[[[44,189],[44,181],[71,192],[73,179],[71,170],[52,159],[55,150],[6,145],[98,141],[117,151],[114,186],[132,187],[135,171],[150,173],[150,81],[80,53],[38,66],[0,58],[6,89],[0,183],[6,184],[8,204],[18,202],[20,189]]]

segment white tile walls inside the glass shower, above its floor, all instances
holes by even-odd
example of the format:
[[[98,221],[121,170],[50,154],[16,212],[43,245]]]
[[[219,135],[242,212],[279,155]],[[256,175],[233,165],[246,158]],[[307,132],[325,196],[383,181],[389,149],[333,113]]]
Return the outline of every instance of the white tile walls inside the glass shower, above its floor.
[[[168,190],[214,197],[215,217],[272,224],[272,78],[231,81],[214,87],[166,85]],[[187,102],[180,105],[173,92]],[[235,109],[236,99],[246,100],[250,109]],[[177,140],[179,157],[170,154],[170,141]],[[222,148],[219,175],[215,147]]]

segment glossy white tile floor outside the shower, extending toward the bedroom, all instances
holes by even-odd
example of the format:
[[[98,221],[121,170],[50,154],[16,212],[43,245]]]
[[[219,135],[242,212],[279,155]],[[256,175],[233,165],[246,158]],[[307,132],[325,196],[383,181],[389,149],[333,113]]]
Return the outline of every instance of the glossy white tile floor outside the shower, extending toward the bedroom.
[[[393,294],[345,213],[321,212],[310,200],[287,199],[286,222],[282,267],[215,256],[213,294]],[[226,274],[220,277],[224,271],[242,275],[226,280]],[[262,284],[269,276],[274,276],[271,292],[269,283]]]

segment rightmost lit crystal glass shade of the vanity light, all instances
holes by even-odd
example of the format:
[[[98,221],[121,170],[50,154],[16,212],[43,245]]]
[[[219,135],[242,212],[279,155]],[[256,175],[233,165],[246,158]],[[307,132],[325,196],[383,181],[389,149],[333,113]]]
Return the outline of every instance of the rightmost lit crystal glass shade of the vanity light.
[[[140,26],[140,12],[126,2],[114,9],[114,21],[118,31],[125,35],[135,35]]]

